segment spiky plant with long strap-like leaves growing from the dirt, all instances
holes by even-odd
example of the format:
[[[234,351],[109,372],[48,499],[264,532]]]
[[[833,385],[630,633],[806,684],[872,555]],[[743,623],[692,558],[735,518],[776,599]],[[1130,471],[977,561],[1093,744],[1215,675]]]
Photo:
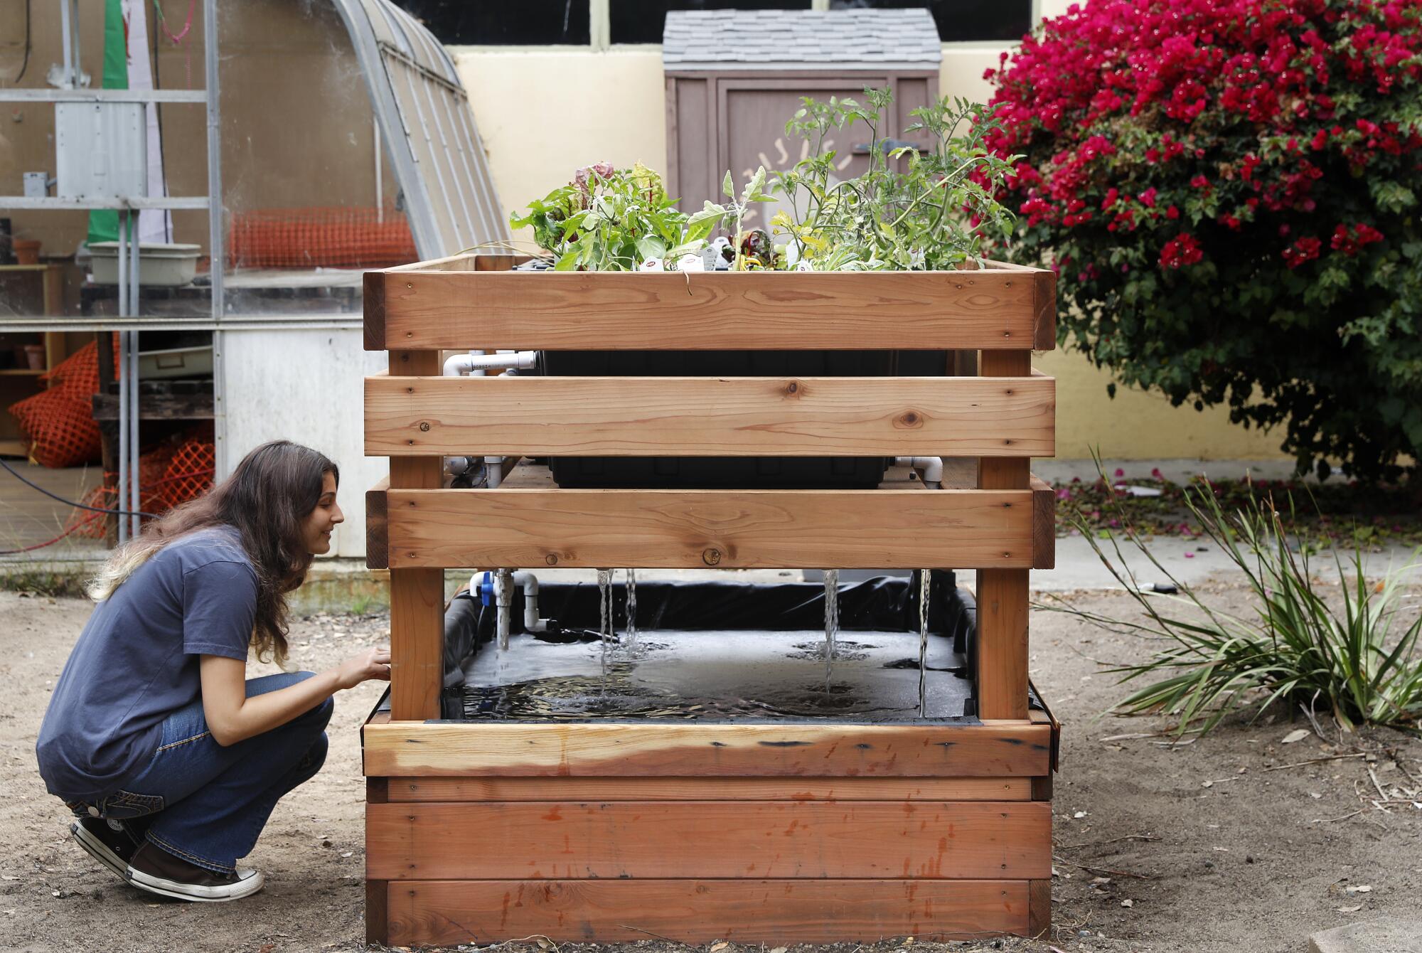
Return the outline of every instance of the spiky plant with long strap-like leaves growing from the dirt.
[[[1092,549],[1145,613],[1143,620],[1113,619],[1062,602],[1045,607],[1166,643],[1150,659],[1112,670],[1122,674],[1122,683],[1149,681],[1116,710],[1160,711],[1177,715],[1182,733],[1196,723],[1207,733],[1231,711],[1253,707],[1258,717],[1283,701],[1310,713],[1331,711],[1347,730],[1374,724],[1418,734],[1422,659],[1416,646],[1422,619],[1402,624],[1406,569],[1391,569],[1369,583],[1361,549],[1355,545],[1347,563],[1335,549],[1334,565],[1342,580],[1341,605],[1335,607],[1313,586],[1308,548],[1293,548],[1291,499],[1287,519],[1268,496],[1251,498],[1227,515],[1203,479],[1186,499],[1204,535],[1247,580],[1253,617],[1206,605],[1128,526],[1128,541],[1180,595],[1143,590],[1118,538],[1111,536],[1112,558],[1088,533]]]

